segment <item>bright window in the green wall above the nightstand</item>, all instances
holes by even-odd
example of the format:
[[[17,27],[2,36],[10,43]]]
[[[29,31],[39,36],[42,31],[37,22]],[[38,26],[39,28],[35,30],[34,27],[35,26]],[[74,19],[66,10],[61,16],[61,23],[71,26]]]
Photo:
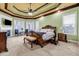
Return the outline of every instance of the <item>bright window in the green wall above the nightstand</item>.
[[[76,34],[76,14],[63,16],[63,32],[70,35]]]

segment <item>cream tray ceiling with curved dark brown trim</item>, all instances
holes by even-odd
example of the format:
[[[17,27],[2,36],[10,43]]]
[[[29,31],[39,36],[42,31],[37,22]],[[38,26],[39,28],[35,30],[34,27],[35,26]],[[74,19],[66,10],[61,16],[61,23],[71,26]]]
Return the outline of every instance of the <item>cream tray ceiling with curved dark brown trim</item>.
[[[0,10],[20,18],[36,18],[43,14],[62,9],[75,3],[31,3],[33,15],[28,15],[30,3],[0,3]]]

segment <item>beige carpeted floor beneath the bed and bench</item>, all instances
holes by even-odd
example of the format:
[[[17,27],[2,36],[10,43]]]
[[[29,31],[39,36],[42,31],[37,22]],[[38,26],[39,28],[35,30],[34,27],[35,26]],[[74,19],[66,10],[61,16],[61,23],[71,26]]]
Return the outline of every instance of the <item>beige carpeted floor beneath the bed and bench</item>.
[[[8,52],[0,53],[1,56],[78,56],[79,46],[75,43],[59,42],[58,45],[47,44],[43,48],[34,45],[30,48],[28,42],[23,43],[24,36],[7,39]]]

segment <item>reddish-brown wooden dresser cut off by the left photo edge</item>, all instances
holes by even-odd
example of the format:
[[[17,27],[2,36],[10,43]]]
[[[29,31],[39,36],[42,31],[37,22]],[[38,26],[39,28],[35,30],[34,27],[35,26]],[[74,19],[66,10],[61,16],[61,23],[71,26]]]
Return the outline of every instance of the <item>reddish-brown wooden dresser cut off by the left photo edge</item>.
[[[6,32],[0,32],[0,52],[7,51]]]

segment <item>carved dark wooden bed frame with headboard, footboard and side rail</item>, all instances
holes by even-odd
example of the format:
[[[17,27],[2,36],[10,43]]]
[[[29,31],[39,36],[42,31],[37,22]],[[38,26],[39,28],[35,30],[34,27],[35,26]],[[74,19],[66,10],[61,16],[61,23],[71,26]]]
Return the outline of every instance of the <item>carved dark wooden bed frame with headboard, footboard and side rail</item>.
[[[45,46],[45,44],[47,44],[48,42],[51,42],[51,43],[54,43],[55,45],[57,45],[57,40],[56,40],[56,27],[53,27],[51,25],[46,25],[45,27],[42,27],[42,29],[54,29],[54,33],[55,33],[55,36],[53,37],[53,40],[52,38],[48,41],[44,41],[42,39],[42,36],[38,35],[36,32],[31,32],[32,33],[32,36],[34,37],[37,37],[37,40],[36,40],[36,44],[39,44],[41,47]]]

